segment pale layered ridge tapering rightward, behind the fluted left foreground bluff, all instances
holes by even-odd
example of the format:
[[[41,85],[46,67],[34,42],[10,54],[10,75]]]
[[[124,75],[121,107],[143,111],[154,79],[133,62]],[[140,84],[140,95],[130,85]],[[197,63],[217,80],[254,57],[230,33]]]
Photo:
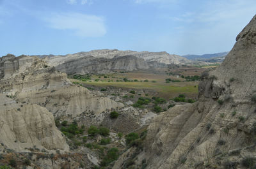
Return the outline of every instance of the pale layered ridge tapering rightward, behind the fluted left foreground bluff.
[[[19,61],[19,57],[15,61],[17,60]],[[5,62],[10,64],[9,62],[12,61]],[[73,85],[65,73],[55,71],[42,59],[35,57],[28,68],[28,64],[24,66],[26,67],[24,70],[19,69],[11,76],[8,74],[9,78],[0,80],[1,91],[17,101],[45,107],[55,117],[64,115],[76,117],[88,111],[99,114],[107,109],[123,107],[122,103],[94,95],[84,87]],[[6,77],[5,72],[9,72],[10,69],[6,70],[4,67],[4,77]]]

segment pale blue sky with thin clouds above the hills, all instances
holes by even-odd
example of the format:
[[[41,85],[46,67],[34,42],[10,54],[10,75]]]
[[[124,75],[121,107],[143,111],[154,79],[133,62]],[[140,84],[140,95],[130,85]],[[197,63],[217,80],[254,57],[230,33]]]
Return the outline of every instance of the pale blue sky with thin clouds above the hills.
[[[0,0],[0,56],[230,50],[255,0]]]

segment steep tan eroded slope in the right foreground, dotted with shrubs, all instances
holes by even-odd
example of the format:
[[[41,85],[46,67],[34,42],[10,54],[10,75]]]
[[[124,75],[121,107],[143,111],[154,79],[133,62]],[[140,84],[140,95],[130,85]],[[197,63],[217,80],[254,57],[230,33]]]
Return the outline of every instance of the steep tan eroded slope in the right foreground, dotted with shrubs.
[[[114,168],[255,168],[256,15],[236,40],[223,64],[203,74],[199,101],[157,115],[143,151],[129,149]]]

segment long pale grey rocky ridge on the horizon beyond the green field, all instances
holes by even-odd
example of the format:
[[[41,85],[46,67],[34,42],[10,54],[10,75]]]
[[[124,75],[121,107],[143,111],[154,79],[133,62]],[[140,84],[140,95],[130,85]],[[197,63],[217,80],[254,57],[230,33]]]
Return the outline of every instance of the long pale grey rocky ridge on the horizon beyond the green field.
[[[161,68],[166,64],[188,63],[188,59],[166,52],[131,50],[92,50],[68,55],[42,55],[57,70],[72,73],[108,73],[113,70],[136,71]]]

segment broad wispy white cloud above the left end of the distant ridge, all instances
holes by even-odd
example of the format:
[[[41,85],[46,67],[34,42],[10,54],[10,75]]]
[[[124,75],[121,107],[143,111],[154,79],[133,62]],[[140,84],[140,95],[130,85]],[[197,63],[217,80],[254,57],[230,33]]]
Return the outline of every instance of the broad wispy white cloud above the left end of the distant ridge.
[[[81,13],[60,13],[45,17],[44,20],[53,29],[69,30],[76,36],[100,37],[106,34],[104,18]]]

